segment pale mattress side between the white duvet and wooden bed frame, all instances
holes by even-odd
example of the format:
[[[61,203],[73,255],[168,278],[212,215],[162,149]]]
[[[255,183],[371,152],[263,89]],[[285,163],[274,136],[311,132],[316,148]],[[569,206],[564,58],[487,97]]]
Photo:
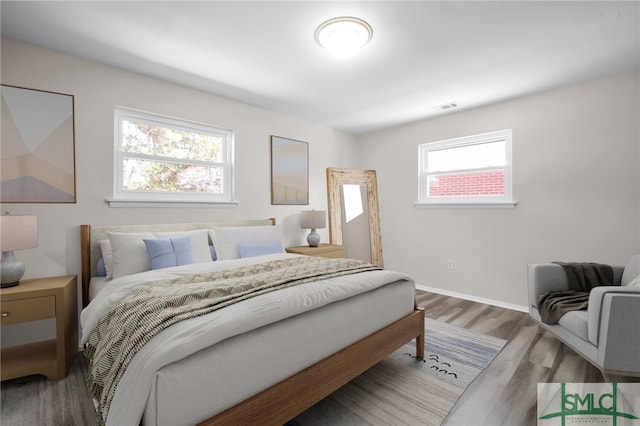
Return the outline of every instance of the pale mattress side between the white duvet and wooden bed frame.
[[[143,424],[197,424],[397,321],[414,303],[413,283],[397,281],[172,363],[154,377]]]

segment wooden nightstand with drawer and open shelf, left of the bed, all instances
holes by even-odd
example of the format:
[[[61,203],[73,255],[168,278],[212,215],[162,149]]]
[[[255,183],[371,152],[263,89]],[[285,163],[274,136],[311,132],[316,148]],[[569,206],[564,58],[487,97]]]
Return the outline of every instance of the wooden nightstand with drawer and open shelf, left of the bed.
[[[78,352],[77,281],[75,275],[22,280],[0,290],[0,325],[56,319],[56,338],[2,349],[0,379],[32,374],[61,379]]]

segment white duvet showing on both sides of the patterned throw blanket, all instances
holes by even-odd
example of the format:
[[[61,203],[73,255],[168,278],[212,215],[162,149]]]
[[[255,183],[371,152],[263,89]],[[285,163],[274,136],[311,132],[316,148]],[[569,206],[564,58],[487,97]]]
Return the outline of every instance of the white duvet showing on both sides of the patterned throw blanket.
[[[95,299],[81,313],[82,344],[87,342],[102,313],[138,286],[192,273],[241,267],[293,256],[297,255],[282,253],[247,259],[197,263],[114,279],[96,295]],[[405,274],[387,270],[345,275],[316,282],[313,285],[299,285],[263,294],[210,314],[175,324],[149,341],[133,358],[118,384],[106,419],[107,425],[139,424],[153,377],[158,370],[168,364],[229,337],[399,280],[411,281]]]

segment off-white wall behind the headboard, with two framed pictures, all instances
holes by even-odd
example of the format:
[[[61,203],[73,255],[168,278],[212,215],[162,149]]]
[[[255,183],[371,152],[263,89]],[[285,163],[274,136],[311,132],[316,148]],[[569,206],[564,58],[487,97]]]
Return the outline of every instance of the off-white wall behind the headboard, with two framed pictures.
[[[136,224],[275,217],[286,245],[305,242],[299,212],[327,207],[326,167],[350,167],[353,136],[228,99],[2,38],[3,84],[75,96],[76,204],[3,204],[2,211],[38,216],[38,248],[17,252],[25,278],[80,274],[82,223]],[[113,112],[124,106],[235,131],[235,207],[110,208]],[[270,135],[309,143],[308,206],[272,206]],[[328,230],[319,230],[328,242]]]

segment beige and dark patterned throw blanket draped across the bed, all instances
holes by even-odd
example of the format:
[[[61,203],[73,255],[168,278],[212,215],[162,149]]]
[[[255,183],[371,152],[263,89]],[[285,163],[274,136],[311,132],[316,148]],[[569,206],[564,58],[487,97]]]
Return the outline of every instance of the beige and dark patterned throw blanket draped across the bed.
[[[105,312],[85,345],[89,394],[97,403],[100,423],[106,422],[132,358],[165,328],[260,294],[377,269],[381,268],[359,260],[303,256],[158,281],[134,290]]]

